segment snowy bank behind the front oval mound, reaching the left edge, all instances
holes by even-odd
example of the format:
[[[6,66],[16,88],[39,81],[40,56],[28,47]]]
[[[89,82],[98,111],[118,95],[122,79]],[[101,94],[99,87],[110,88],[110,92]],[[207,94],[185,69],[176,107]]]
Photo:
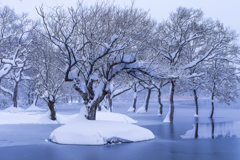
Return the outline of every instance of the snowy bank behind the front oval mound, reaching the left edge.
[[[86,121],[86,107],[82,107],[79,114],[65,116],[56,114],[57,121],[50,119],[50,111],[47,113],[39,113],[40,110],[32,110],[27,112],[21,108],[13,106],[7,108],[8,110],[0,111],[0,124],[66,124],[75,121]],[[120,113],[111,112],[97,112],[97,121],[117,121],[124,123],[137,123],[134,119]]]

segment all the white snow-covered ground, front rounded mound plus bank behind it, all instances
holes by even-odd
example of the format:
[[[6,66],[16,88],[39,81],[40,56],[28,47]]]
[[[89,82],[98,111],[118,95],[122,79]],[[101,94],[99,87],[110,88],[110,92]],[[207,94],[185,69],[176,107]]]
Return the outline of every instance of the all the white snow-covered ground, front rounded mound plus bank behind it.
[[[29,112],[29,111],[36,112]],[[31,106],[24,110],[9,107],[0,112],[0,124],[66,124],[54,130],[49,139],[60,144],[104,145],[108,143],[137,142],[153,139],[153,133],[143,127],[133,125],[134,119],[120,113],[98,111],[96,121],[86,120],[85,107],[80,114],[64,116],[56,114],[56,121],[50,119],[50,111]]]

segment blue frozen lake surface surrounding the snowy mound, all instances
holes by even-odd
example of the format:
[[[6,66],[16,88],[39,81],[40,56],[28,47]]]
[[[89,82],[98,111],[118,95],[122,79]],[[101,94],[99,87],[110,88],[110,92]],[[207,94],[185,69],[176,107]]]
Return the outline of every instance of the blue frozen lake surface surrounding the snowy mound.
[[[131,102],[114,103],[114,112],[124,113],[138,125],[150,129],[155,139],[137,143],[104,146],[58,145],[47,142],[59,125],[0,125],[0,160],[239,160],[240,108],[217,105],[214,120],[208,118],[210,103],[201,100],[199,118],[194,118],[192,100],[176,101],[174,124],[162,123],[158,105],[151,102],[146,114],[126,113]],[[142,102],[139,102],[140,107]],[[58,106],[63,115],[79,112],[79,107]],[[197,135],[197,136],[196,136]]]

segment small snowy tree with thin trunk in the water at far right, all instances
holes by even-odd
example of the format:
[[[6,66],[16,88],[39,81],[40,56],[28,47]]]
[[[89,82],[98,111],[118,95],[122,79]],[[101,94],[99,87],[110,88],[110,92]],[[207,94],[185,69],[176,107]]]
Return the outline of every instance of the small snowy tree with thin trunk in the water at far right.
[[[206,88],[211,94],[212,111],[210,118],[214,114],[214,99],[219,102],[224,102],[230,105],[230,102],[236,102],[235,98],[239,96],[238,84],[239,77],[237,76],[236,67],[227,59],[215,58],[208,62],[207,71],[208,80]]]

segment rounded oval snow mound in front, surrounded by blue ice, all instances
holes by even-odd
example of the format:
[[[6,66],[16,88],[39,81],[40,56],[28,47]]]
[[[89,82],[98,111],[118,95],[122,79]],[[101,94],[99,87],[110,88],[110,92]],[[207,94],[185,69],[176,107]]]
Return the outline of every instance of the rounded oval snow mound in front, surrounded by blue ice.
[[[55,129],[49,139],[59,144],[104,145],[154,139],[153,133],[129,123],[80,121]]]

